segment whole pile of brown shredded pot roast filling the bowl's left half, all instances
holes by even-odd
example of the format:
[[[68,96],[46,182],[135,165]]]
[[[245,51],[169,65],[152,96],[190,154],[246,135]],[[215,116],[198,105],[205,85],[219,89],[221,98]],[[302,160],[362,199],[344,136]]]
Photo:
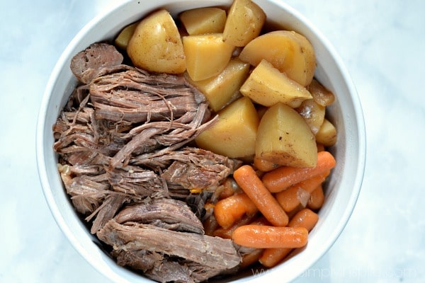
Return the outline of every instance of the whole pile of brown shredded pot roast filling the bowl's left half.
[[[71,62],[79,85],[53,127],[67,194],[118,265],[159,282],[234,272],[244,250],[205,235],[203,221],[241,162],[198,149],[215,122],[184,76],[123,64],[96,43]]]

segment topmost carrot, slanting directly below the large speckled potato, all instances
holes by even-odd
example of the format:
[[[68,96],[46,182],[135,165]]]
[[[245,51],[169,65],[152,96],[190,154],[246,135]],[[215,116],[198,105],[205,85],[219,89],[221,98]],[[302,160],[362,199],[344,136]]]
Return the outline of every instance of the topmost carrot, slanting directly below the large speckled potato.
[[[329,151],[317,153],[317,165],[312,168],[280,166],[263,175],[263,183],[270,192],[281,192],[291,185],[331,170],[336,165],[334,156]]]

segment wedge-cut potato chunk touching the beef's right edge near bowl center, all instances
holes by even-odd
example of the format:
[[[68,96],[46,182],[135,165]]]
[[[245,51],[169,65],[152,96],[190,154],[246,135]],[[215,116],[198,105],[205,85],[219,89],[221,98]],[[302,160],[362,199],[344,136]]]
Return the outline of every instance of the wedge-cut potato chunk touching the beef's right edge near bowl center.
[[[254,156],[259,118],[254,104],[242,97],[218,112],[218,122],[195,140],[201,149],[230,158]]]

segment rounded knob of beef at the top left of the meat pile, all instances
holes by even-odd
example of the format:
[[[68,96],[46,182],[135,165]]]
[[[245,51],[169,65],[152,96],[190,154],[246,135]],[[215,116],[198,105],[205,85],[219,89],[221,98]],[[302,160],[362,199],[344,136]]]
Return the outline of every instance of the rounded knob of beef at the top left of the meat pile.
[[[113,67],[123,63],[123,54],[113,45],[94,43],[71,59],[71,71],[81,83],[90,83],[103,67]]]

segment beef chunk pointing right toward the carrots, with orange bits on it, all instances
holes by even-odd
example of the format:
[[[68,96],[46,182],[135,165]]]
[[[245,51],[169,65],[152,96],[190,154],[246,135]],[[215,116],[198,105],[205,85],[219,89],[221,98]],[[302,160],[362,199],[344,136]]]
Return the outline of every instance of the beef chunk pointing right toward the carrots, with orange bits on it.
[[[190,146],[176,151],[167,148],[142,154],[132,158],[130,163],[162,168],[161,175],[169,192],[185,200],[202,221],[212,213],[205,211],[205,204],[217,201],[221,184],[241,165],[241,161]],[[185,189],[188,192],[184,192]]]

